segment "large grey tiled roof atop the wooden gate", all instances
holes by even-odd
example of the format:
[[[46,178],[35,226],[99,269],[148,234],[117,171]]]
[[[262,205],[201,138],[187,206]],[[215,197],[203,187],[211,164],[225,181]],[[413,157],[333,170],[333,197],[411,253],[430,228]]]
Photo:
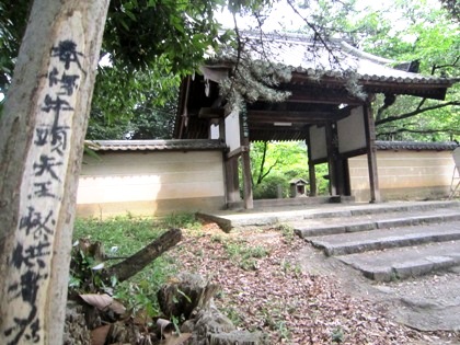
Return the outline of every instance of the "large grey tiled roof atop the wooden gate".
[[[341,39],[326,41],[327,46],[324,46],[320,41],[296,34],[264,34],[261,38],[251,33],[243,33],[243,38],[244,50],[253,60],[268,60],[272,64],[288,66],[292,72],[312,77],[346,78],[349,71],[354,71],[361,81],[440,85],[460,81],[459,78],[410,72],[410,64],[398,66],[395,60],[365,53]],[[217,56],[214,61],[219,64],[222,59],[232,60],[232,55],[234,51]]]

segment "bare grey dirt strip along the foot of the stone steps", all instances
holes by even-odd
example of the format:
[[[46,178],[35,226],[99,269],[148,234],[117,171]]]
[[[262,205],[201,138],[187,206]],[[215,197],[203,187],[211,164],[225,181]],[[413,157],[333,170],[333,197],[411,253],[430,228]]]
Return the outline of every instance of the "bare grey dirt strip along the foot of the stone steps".
[[[417,344],[460,344],[448,336],[460,331],[458,268],[407,280],[376,283],[307,243],[296,255],[306,272],[337,279],[343,291],[380,304],[398,322],[417,331],[438,332]]]

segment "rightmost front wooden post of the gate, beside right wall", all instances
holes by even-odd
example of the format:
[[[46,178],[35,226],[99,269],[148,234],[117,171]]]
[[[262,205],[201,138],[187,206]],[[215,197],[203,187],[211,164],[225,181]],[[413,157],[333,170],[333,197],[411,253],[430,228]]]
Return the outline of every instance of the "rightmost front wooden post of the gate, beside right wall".
[[[363,106],[366,142],[367,142],[367,165],[369,170],[370,203],[380,203],[379,176],[377,172],[377,151],[376,151],[376,126],[372,116],[370,101]]]

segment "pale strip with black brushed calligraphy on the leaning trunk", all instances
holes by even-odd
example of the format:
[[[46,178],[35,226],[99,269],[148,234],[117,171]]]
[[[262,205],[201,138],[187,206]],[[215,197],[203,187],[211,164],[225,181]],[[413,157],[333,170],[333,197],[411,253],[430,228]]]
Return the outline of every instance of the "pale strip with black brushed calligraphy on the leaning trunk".
[[[38,123],[26,162],[21,194],[19,240],[9,257],[15,277],[8,281],[9,302],[20,306],[9,315],[2,337],[7,344],[38,343],[43,338],[43,306],[51,274],[51,252],[64,195],[62,176],[69,160],[71,122],[83,55],[72,39],[59,39],[49,53],[46,87],[38,97]]]

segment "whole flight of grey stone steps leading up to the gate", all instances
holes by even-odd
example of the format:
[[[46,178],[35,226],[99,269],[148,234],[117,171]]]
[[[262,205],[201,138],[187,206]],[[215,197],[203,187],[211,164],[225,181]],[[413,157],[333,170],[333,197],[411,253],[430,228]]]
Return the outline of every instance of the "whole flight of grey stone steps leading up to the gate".
[[[325,255],[378,281],[460,267],[460,204],[379,205],[289,221]]]

